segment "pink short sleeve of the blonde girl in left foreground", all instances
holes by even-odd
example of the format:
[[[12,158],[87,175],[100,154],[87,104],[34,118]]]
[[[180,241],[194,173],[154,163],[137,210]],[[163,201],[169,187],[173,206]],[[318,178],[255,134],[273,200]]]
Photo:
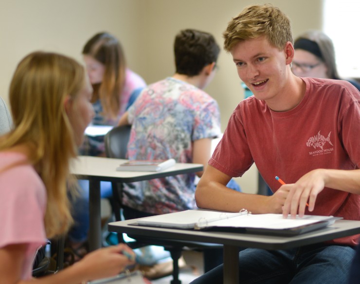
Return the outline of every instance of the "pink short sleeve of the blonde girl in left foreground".
[[[0,174],[0,247],[46,240],[44,184],[30,166],[15,166]]]

